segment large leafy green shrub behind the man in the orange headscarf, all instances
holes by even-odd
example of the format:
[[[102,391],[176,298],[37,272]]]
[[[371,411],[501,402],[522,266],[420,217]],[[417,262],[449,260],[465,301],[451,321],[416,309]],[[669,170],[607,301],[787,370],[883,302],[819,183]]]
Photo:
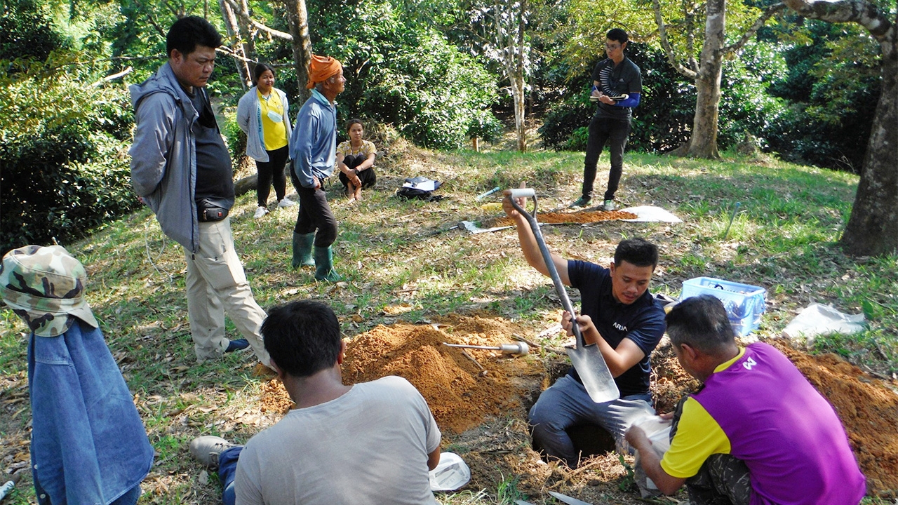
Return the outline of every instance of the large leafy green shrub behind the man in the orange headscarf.
[[[492,75],[445,36],[389,0],[309,2],[316,52],[338,58],[347,78],[340,120],[392,125],[420,146],[453,148],[496,135]],[[297,109],[298,110],[298,109]]]

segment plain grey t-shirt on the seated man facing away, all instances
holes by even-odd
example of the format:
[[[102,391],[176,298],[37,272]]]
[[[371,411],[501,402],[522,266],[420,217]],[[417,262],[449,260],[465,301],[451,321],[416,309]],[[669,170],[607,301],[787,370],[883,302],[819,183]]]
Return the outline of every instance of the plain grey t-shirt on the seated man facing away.
[[[250,439],[237,461],[237,505],[436,505],[427,456],[440,430],[401,377],[353,385]]]

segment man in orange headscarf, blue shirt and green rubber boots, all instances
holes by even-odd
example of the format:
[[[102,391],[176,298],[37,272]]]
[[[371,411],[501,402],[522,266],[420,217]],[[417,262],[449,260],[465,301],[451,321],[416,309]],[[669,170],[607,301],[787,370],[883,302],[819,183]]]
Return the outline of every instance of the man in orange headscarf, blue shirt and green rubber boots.
[[[312,56],[309,83],[312,97],[296,115],[290,157],[290,176],[299,194],[299,216],[293,230],[293,268],[314,266],[315,279],[336,282],[331,244],[337,239],[337,220],[330,211],[322,183],[337,162],[337,108],[343,93],[343,66],[334,58]],[[361,182],[353,182],[361,185]],[[317,230],[317,233],[316,233]],[[314,248],[313,248],[314,245]]]

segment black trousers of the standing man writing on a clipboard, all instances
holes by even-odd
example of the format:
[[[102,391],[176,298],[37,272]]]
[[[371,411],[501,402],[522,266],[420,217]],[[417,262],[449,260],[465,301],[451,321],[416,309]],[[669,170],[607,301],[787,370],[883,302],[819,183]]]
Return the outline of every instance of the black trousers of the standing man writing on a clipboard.
[[[593,116],[589,121],[589,137],[586,139],[586,155],[583,161],[583,196],[593,198],[595,182],[595,165],[606,142],[611,141],[612,168],[608,173],[608,190],[604,199],[614,199],[623,172],[623,149],[627,146],[629,136],[629,120],[612,120]]]

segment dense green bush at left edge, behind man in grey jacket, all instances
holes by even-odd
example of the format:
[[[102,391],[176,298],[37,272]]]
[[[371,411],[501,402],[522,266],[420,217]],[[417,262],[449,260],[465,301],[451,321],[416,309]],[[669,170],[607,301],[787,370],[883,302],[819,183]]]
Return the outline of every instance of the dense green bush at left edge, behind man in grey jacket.
[[[132,121],[120,85],[91,87],[72,65],[0,62],[0,252],[25,244],[65,244],[138,207],[127,148]],[[40,100],[22,96],[40,90]]]

